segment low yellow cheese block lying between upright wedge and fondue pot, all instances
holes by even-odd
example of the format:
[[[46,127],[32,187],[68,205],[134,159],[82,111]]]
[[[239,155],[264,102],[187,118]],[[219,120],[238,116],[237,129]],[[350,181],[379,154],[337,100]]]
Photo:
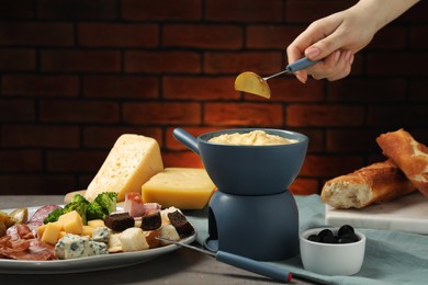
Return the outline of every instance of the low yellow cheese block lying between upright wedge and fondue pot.
[[[166,168],[142,187],[144,203],[156,202],[164,208],[202,209],[215,190],[204,169]]]

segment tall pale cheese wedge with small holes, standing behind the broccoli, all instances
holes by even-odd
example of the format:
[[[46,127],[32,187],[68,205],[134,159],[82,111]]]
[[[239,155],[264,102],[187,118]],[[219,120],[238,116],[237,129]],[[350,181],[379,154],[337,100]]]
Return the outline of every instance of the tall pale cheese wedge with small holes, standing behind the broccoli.
[[[140,192],[142,185],[164,170],[158,142],[150,137],[125,134],[119,137],[85,197],[92,202],[102,192],[116,192],[125,201],[128,192]]]

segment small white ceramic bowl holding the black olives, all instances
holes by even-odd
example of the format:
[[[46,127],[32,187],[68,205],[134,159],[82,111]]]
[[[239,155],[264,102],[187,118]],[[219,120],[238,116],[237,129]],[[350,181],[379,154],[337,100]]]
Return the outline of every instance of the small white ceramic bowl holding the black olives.
[[[322,243],[309,241],[326,228],[308,229],[301,233],[301,258],[305,270],[323,275],[353,275],[361,270],[365,252],[365,236],[356,231],[359,241],[351,243]],[[336,236],[339,228],[327,228]]]

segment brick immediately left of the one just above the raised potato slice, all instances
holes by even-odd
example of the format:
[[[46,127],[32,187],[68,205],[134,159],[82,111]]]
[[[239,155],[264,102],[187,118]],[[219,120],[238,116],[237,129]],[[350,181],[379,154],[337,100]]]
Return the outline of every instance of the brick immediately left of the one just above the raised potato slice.
[[[125,52],[126,72],[198,73],[201,56],[192,52]]]

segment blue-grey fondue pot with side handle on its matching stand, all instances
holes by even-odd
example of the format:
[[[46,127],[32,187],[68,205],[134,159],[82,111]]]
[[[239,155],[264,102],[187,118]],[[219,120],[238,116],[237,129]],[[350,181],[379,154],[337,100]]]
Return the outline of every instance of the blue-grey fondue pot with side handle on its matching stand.
[[[176,128],[173,136],[199,155],[217,186],[209,204],[205,248],[260,261],[299,254],[299,210],[289,192],[306,156],[305,135],[258,128],[297,142],[237,146],[210,142],[223,134],[246,134],[255,128],[206,133],[198,138]]]

